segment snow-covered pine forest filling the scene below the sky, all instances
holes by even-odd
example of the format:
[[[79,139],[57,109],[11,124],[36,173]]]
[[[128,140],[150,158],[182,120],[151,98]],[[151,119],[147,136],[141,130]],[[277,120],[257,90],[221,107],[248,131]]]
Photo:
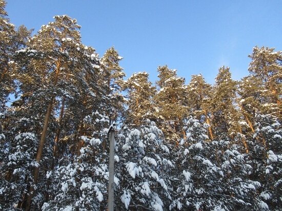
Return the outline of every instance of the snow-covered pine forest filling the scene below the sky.
[[[131,75],[54,16],[15,27],[0,1],[0,210],[282,210],[282,51],[213,85],[168,66]],[[247,55],[246,55],[247,56]],[[247,70],[246,70],[247,71]]]

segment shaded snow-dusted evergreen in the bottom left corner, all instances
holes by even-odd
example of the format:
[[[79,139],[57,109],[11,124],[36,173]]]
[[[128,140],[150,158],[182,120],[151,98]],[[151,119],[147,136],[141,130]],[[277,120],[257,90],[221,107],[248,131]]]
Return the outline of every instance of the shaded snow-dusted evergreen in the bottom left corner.
[[[33,168],[37,166],[34,157],[38,139],[36,118],[25,110],[10,109],[3,125],[0,149],[0,209],[21,208],[23,198],[33,184]],[[38,122],[37,122],[38,123]],[[42,198],[37,197],[36,202]]]

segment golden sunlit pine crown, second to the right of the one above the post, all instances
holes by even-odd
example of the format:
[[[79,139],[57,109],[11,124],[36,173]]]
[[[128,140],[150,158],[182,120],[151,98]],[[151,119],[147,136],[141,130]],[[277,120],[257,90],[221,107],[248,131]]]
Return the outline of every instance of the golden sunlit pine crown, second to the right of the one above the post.
[[[166,138],[177,143],[180,137],[185,137],[182,130],[183,119],[187,115],[185,79],[177,77],[176,70],[170,70],[167,66],[158,67],[158,73],[155,116]]]

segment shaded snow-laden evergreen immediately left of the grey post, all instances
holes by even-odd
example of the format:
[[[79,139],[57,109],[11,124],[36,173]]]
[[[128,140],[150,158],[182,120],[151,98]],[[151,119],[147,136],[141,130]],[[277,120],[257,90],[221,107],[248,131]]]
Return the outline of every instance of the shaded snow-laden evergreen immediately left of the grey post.
[[[66,155],[53,171],[47,172],[52,194],[43,210],[106,209],[109,155],[103,142],[108,139],[109,117],[95,112],[85,118],[84,124],[93,128],[91,135],[79,136],[84,141],[79,155]]]

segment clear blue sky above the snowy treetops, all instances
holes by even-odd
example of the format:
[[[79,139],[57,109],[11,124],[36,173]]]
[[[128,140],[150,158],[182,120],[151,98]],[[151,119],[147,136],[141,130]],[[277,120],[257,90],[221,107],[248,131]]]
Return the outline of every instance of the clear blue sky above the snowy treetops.
[[[67,14],[82,26],[82,40],[102,56],[114,46],[127,76],[159,65],[177,69],[187,83],[202,73],[214,82],[220,66],[236,80],[248,75],[254,46],[282,50],[282,1],[8,0],[11,23],[38,31]]]

